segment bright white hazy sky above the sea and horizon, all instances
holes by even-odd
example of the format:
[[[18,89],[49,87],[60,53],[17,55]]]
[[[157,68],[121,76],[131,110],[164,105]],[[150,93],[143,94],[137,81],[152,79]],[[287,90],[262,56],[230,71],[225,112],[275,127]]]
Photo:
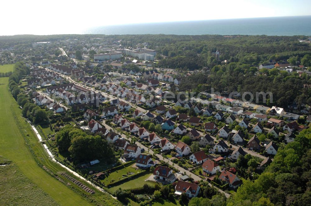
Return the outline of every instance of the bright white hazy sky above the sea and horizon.
[[[79,34],[94,26],[311,15],[310,0],[6,0],[0,35]]]

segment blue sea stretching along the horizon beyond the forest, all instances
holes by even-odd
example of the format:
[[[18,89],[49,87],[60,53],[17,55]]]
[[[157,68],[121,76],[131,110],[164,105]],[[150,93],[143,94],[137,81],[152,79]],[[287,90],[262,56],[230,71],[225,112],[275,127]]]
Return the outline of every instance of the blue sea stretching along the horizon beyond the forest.
[[[311,16],[202,20],[168,23],[100,26],[83,34],[178,34],[178,35],[311,35]]]

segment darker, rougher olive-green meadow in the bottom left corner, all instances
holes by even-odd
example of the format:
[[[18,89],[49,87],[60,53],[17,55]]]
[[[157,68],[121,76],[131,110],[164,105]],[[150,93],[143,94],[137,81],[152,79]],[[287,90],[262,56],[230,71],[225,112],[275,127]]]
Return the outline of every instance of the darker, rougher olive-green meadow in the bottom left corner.
[[[25,177],[15,163],[1,156],[0,163],[9,163],[0,166],[0,205],[59,205]]]

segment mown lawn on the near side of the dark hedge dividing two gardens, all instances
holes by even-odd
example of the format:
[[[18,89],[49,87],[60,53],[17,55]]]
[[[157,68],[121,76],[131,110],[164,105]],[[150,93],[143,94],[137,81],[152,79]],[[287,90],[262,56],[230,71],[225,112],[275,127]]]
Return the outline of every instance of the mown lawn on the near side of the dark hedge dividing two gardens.
[[[138,177],[138,178],[132,179],[130,181],[124,182],[120,185],[110,187],[108,190],[111,192],[114,192],[114,191],[118,190],[119,187],[121,187],[123,190],[127,190],[127,189],[142,187],[144,184],[148,184],[151,186],[158,184],[154,181],[145,181],[148,177],[150,177],[150,175],[151,175],[151,173],[145,174],[141,177]],[[161,186],[161,184],[160,184],[160,186]]]

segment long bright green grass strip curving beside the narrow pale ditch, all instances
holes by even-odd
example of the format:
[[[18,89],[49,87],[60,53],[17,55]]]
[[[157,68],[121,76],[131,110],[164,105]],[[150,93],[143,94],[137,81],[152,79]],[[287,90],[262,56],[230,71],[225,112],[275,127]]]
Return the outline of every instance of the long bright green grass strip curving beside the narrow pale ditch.
[[[97,203],[101,205],[121,205],[109,195],[100,193],[98,190],[95,195],[89,195],[78,186],[66,186],[38,166],[36,161],[49,168],[53,173],[64,170],[47,157],[46,151],[38,142],[30,125],[21,117],[21,110],[8,91],[7,84],[8,78],[0,78],[0,155],[12,160],[32,184],[46,192],[60,205],[92,205],[86,198],[90,201],[98,201]],[[33,154],[30,152],[29,146]],[[26,192],[27,188],[24,190]],[[85,197],[80,194],[84,194]],[[31,198],[36,199],[36,196],[33,195]]]

